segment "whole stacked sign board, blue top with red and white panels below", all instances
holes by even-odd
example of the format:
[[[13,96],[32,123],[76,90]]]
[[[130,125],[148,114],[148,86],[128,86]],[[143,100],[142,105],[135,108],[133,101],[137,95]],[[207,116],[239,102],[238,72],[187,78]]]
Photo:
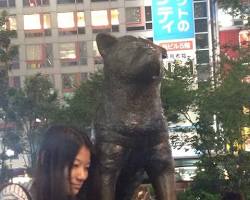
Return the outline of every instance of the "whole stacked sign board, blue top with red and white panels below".
[[[193,0],[153,0],[152,16],[154,42],[166,48],[168,59],[194,57]]]

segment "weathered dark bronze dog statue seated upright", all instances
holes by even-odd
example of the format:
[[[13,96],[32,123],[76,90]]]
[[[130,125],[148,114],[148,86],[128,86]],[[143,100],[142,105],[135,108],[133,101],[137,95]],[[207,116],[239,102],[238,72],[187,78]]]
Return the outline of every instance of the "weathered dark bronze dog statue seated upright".
[[[158,200],[175,200],[173,159],[160,98],[161,56],[151,41],[98,34],[104,99],[95,122],[97,169],[91,199],[125,200],[148,174]]]

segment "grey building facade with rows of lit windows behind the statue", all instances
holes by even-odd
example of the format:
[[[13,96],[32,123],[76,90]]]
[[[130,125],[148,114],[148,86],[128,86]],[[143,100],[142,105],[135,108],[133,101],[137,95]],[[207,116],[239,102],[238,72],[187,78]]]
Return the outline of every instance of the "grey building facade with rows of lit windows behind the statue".
[[[110,32],[153,38],[150,0],[0,0],[17,30],[12,44],[19,53],[9,72],[10,84],[48,75],[61,96],[102,67],[95,36]],[[211,20],[208,0],[194,0],[195,51],[199,80],[211,75]]]

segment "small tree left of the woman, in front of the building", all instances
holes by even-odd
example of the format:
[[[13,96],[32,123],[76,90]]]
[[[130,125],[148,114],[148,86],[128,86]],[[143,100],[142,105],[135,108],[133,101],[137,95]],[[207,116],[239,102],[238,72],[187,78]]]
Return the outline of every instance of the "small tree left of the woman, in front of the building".
[[[47,77],[36,74],[25,80],[23,89],[10,90],[8,100],[6,117],[15,123],[22,147],[19,150],[28,156],[28,167],[33,167],[39,135],[59,109],[57,93]]]

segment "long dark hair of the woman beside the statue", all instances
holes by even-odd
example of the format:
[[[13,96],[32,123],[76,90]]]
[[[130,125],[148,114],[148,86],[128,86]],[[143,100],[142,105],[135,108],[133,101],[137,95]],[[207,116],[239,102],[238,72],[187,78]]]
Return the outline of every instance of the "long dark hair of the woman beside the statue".
[[[69,200],[69,178],[82,146],[92,151],[88,136],[63,125],[51,126],[40,147],[34,179],[36,200]]]

